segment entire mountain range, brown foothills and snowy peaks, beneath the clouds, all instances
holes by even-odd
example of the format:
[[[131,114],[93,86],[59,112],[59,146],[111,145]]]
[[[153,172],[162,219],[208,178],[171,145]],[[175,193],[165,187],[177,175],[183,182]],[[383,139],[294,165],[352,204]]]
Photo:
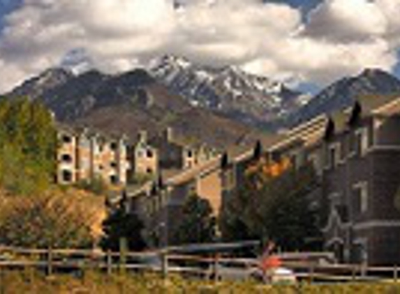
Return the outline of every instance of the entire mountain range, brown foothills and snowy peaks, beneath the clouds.
[[[179,137],[217,148],[248,146],[264,130],[283,130],[343,109],[360,95],[400,95],[400,81],[383,70],[343,77],[311,98],[281,82],[226,66],[212,68],[164,56],[149,68],[107,75],[51,68],[3,96],[42,101],[58,121],[135,138],[172,127]]]

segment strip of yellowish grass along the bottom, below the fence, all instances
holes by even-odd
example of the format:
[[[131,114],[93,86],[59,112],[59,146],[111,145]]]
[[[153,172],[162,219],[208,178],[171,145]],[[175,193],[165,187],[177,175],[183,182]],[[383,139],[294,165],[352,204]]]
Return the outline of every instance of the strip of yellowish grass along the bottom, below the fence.
[[[156,274],[103,274],[84,272],[79,275],[58,274],[46,277],[32,270],[1,271],[0,293],[47,294],[47,293],[400,293],[396,283],[358,283],[311,285],[261,285],[252,282],[196,281],[172,276],[168,280]]]

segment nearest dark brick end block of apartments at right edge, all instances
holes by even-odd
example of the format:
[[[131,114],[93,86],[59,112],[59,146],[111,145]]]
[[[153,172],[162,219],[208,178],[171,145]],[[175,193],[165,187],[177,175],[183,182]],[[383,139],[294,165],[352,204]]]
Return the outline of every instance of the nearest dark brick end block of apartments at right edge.
[[[320,142],[321,224],[340,261],[400,262],[400,98],[365,97],[335,114]]]

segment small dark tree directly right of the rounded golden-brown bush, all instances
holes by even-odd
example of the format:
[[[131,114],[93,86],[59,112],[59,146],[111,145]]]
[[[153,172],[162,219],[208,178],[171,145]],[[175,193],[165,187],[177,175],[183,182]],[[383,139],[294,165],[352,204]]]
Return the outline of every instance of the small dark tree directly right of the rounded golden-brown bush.
[[[145,240],[142,238],[143,228],[138,215],[127,212],[124,205],[121,204],[104,220],[103,238],[100,245],[103,249],[118,252],[121,239],[124,238],[128,250],[142,250],[146,247]]]

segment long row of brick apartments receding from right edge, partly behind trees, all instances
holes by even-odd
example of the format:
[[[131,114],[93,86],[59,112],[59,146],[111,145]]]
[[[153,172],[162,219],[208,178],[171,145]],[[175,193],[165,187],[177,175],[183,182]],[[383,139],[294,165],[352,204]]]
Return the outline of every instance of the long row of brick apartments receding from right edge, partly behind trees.
[[[400,211],[394,205],[400,185],[400,98],[363,97],[353,107],[322,115],[278,134],[264,144],[271,160],[290,158],[294,167],[312,162],[320,185],[309,196],[320,215],[325,249],[339,261],[400,263]],[[179,207],[195,192],[210,199],[214,212],[243,183],[253,150],[221,157],[183,171],[134,198],[147,219],[147,232],[169,240]],[[162,233],[168,226],[168,233]]]

